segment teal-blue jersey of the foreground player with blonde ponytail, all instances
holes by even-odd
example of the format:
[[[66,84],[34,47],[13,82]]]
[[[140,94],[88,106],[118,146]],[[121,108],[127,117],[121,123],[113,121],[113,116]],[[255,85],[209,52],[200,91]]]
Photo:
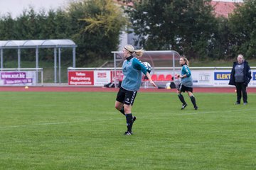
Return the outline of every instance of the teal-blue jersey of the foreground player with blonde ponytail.
[[[122,88],[128,91],[138,91],[142,84],[142,73],[146,74],[147,70],[140,60],[130,56],[124,60],[122,72],[124,74]]]

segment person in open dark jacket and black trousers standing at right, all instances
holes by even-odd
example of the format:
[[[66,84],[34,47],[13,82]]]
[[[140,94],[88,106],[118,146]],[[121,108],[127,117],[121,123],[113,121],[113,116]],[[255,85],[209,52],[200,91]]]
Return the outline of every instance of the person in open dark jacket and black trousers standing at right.
[[[252,79],[251,70],[248,62],[244,60],[242,55],[238,55],[238,62],[234,62],[230,75],[230,85],[235,85],[237,92],[237,101],[235,105],[240,104],[241,98],[244,105],[247,104],[247,91],[250,79]]]

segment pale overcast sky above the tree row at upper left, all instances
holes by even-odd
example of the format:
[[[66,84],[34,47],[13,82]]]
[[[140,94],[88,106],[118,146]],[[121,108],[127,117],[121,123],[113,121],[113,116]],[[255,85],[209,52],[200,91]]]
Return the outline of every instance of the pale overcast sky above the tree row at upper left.
[[[50,8],[65,6],[70,0],[0,0],[0,15],[11,13],[13,18],[21,15],[22,11],[29,6],[33,6],[36,12],[41,8],[48,11]]]

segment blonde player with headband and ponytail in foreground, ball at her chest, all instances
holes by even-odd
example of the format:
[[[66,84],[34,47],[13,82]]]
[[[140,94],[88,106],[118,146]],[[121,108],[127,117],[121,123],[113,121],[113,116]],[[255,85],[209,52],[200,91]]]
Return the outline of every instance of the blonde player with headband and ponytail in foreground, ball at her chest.
[[[143,55],[143,52],[144,50],[134,50],[132,45],[125,45],[123,49],[125,60],[122,65],[122,72],[124,78],[117,94],[115,108],[126,117],[127,131],[124,132],[124,135],[132,135],[132,125],[136,120],[136,117],[132,116],[132,104],[142,84],[142,73],[148,77],[153,86],[157,87],[144,64],[137,59]]]

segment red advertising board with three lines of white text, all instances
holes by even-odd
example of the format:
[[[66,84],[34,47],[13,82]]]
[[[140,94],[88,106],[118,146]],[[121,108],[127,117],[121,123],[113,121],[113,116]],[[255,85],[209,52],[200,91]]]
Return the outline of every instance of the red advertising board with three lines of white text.
[[[93,71],[70,71],[68,72],[68,85],[93,86]]]

